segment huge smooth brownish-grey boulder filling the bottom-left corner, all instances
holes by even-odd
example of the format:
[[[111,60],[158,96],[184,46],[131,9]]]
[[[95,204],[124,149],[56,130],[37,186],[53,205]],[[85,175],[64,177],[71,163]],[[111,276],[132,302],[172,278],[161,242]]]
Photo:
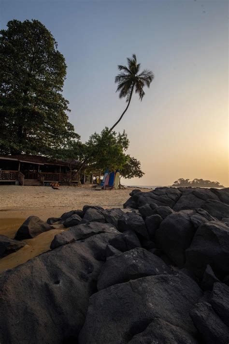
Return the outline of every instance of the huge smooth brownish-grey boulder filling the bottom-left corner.
[[[75,242],[1,273],[0,343],[77,343],[101,264]]]

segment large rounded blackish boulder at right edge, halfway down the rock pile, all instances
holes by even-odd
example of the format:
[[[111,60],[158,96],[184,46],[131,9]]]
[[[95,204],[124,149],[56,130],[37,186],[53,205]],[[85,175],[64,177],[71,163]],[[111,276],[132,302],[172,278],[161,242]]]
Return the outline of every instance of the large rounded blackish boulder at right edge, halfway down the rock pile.
[[[229,273],[229,227],[223,222],[201,224],[186,250],[186,267],[202,277],[207,264],[217,276]]]

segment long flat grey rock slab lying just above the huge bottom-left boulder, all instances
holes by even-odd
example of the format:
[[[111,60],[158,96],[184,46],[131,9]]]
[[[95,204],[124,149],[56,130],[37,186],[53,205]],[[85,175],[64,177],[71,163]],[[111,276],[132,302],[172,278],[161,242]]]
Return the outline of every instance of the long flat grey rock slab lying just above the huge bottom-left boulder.
[[[61,245],[69,244],[76,240],[85,240],[100,233],[118,233],[112,224],[101,224],[100,222],[90,222],[88,224],[78,224],[68,231],[55,235],[50,248],[53,250]]]

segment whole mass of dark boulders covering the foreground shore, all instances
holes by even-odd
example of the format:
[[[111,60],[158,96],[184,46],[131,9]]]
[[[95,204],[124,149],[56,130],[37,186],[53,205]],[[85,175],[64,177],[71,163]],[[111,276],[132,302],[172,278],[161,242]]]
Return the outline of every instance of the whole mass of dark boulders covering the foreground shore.
[[[0,256],[62,223],[0,274],[0,343],[229,343],[229,188],[133,190],[122,209],[29,217]]]

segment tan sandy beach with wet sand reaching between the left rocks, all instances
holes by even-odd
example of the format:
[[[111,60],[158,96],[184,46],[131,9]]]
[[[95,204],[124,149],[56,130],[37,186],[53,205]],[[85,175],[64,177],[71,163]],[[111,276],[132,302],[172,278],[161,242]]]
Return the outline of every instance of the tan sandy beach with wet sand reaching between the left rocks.
[[[31,215],[36,215],[46,221],[49,217],[59,217],[65,211],[82,209],[84,205],[123,208],[123,203],[133,190],[127,188],[126,190],[96,191],[91,185],[61,186],[59,189],[54,190],[45,186],[0,186],[0,235],[14,238],[17,229]],[[68,228],[56,224],[55,229],[33,239],[24,240],[27,243],[26,246],[0,259],[0,271],[12,269],[48,251],[54,236],[63,230],[68,230]]]

